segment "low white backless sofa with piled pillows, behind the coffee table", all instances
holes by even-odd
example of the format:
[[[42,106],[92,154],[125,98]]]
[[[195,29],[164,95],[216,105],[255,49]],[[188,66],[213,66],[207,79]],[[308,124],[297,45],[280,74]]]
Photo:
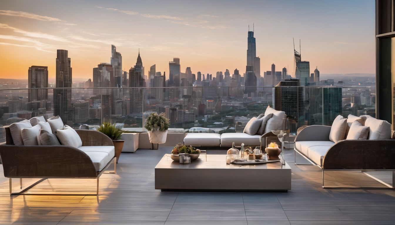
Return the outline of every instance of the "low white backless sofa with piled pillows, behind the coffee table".
[[[286,122],[286,114],[270,106],[265,113],[258,117],[253,117],[246,124],[243,133],[188,133],[184,138],[184,145],[191,146],[213,146],[231,147],[234,142],[236,146],[241,143],[250,146],[264,148],[266,137],[276,137],[273,130],[283,130]]]

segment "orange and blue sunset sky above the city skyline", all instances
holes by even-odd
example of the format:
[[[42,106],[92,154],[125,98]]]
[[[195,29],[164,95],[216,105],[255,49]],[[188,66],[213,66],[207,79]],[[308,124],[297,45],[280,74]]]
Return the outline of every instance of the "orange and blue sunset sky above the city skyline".
[[[125,70],[140,48],[146,75],[169,71],[245,72],[248,25],[255,24],[261,75],[275,63],[292,74],[293,43],[310,73],[374,73],[374,0],[21,1],[0,5],[0,78],[27,79],[28,67],[48,66],[55,77],[56,49],[66,49],[73,78],[92,78],[110,62],[111,44]]]

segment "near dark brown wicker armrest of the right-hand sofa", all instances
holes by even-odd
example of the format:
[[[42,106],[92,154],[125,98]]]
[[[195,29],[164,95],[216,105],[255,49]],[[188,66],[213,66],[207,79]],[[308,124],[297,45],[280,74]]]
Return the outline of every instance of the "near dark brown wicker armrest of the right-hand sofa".
[[[324,169],[395,169],[395,140],[342,140],[322,162]]]

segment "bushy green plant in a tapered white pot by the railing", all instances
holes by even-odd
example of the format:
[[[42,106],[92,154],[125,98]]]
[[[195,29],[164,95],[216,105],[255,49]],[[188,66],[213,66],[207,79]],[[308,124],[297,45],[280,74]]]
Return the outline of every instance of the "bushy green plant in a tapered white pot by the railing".
[[[144,127],[148,130],[148,138],[149,142],[152,143],[152,149],[158,149],[159,144],[166,142],[169,125],[169,119],[166,118],[165,113],[151,113],[149,115]]]

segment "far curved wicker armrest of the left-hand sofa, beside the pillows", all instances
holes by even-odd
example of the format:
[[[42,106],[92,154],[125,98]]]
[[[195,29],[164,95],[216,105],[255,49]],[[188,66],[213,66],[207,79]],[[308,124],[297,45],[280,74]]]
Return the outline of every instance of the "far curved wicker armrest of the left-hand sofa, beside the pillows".
[[[97,130],[75,130],[82,141],[82,146],[114,146],[113,141]]]

